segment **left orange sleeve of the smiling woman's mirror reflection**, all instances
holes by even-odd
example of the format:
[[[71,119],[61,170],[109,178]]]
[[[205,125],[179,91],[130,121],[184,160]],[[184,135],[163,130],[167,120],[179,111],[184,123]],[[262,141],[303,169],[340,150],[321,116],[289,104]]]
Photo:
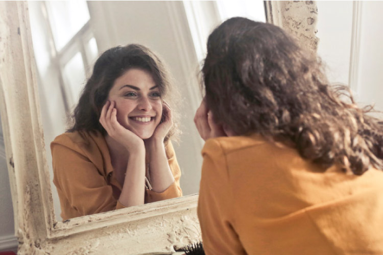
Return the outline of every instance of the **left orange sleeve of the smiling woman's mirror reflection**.
[[[73,218],[116,209],[117,201],[106,177],[81,150],[52,143],[54,184],[63,218]],[[78,215],[74,215],[77,212]]]

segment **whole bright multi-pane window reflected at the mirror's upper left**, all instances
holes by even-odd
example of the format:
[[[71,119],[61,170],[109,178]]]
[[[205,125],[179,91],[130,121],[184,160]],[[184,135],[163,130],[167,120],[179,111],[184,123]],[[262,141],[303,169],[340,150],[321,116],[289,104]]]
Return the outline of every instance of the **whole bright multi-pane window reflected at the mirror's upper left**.
[[[98,56],[87,3],[31,1],[29,6],[40,82],[46,83],[42,86],[46,89],[48,86],[60,87],[67,115],[77,104],[86,77],[90,75],[89,67]]]

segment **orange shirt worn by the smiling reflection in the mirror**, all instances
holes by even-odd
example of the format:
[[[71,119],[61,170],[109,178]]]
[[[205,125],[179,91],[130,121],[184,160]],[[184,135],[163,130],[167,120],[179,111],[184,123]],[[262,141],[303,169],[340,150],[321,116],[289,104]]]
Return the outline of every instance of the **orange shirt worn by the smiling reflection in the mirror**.
[[[125,208],[117,202],[122,187],[115,179],[109,148],[100,132],[64,133],[51,143],[53,183],[63,220]],[[162,193],[146,189],[145,202],[182,196],[181,171],[172,143],[165,146],[175,182]]]

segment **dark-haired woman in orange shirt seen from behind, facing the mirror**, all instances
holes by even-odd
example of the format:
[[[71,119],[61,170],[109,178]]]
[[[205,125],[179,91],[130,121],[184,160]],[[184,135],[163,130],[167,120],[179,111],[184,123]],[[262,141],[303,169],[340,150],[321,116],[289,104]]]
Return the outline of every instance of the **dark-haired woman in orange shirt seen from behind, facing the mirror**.
[[[206,254],[383,254],[382,125],[316,56],[237,17],[210,34],[202,73]]]

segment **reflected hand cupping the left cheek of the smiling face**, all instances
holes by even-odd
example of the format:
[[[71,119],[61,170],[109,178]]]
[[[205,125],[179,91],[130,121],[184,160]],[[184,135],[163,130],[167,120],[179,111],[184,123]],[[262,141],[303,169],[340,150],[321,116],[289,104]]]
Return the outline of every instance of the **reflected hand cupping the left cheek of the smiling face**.
[[[143,140],[117,121],[117,109],[114,101],[106,102],[101,110],[99,121],[108,135],[116,142],[121,143],[129,152],[139,149],[145,151]]]

